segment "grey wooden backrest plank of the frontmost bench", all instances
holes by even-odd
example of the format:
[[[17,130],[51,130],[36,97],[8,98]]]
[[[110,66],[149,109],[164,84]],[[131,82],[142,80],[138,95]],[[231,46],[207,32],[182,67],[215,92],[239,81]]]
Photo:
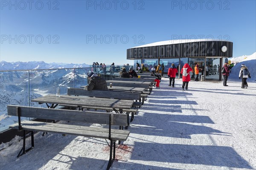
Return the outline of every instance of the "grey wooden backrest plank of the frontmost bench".
[[[7,111],[9,116],[18,116],[15,105],[8,105]],[[34,108],[34,107],[20,107],[20,116],[32,117],[39,119],[53,119],[64,120],[72,122],[84,123],[99,123],[109,124],[109,116],[113,113],[90,112],[90,111],[73,111],[64,109],[50,109],[50,108]],[[113,125],[127,126],[127,118],[124,114],[113,114]]]

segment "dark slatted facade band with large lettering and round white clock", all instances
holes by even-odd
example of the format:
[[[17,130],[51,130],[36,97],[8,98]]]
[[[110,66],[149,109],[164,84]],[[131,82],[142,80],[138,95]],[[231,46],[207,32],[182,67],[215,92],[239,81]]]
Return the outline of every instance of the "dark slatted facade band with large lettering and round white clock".
[[[221,47],[227,46],[222,52]],[[233,42],[201,41],[127,49],[127,59],[233,57]]]

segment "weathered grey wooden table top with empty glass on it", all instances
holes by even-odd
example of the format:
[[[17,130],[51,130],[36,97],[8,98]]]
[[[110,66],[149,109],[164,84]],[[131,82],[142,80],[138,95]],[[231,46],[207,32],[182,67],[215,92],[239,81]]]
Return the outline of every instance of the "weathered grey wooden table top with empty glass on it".
[[[134,103],[132,100],[124,99],[106,99],[99,97],[85,97],[85,96],[67,96],[61,95],[47,95],[32,99],[32,102],[38,103],[52,103],[59,105],[76,105],[76,106],[88,106],[88,107],[106,107],[116,109],[130,109]]]

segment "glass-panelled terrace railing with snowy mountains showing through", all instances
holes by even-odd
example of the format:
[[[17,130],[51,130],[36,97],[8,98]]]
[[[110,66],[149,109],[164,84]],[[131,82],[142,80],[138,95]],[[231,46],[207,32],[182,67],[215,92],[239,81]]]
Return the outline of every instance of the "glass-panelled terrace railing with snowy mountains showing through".
[[[31,100],[47,94],[56,94],[57,88],[60,88],[60,93],[65,95],[67,88],[80,88],[80,86],[87,85],[87,73],[90,71],[110,80],[119,75],[118,72],[122,67],[99,65],[99,67],[88,68],[1,70],[0,132],[18,121],[16,116],[8,116],[7,105],[42,107]]]

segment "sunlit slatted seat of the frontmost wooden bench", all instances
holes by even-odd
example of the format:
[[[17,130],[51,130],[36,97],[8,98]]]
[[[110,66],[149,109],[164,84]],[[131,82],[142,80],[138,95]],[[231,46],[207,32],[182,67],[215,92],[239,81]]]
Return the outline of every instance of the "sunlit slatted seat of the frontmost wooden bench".
[[[76,136],[86,136],[108,139],[108,129],[92,128],[79,125],[64,125],[57,123],[45,123],[35,121],[23,121],[21,123],[23,130],[37,130],[44,132],[53,132],[61,134],[70,134]],[[18,123],[11,125],[10,128],[19,129]],[[128,138],[129,131],[127,130],[111,130],[111,139],[125,141]]]

